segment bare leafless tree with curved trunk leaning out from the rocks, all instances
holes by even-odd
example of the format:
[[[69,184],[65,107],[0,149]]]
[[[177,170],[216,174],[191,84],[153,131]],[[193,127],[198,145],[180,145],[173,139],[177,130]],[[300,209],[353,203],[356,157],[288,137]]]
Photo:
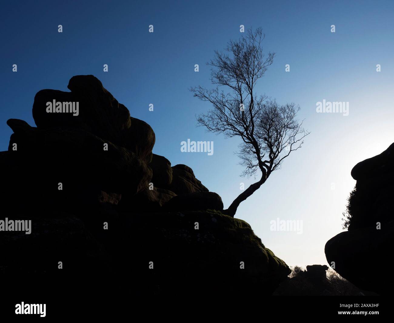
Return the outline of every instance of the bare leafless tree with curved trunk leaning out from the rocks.
[[[214,89],[202,86],[190,88],[195,97],[208,101],[213,109],[197,117],[197,123],[213,133],[224,133],[227,138],[239,136],[242,142],[238,155],[245,166],[242,176],[261,178],[244,190],[224,213],[234,217],[240,203],[251,196],[269,175],[279,168],[284,158],[303,144],[309,134],[296,119],[299,106],[294,103],[279,105],[265,95],[257,96],[256,82],[273,63],[275,53],[265,55],[262,29],[247,30],[238,41],[230,40],[227,53],[215,51],[211,68]],[[223,87],[226,91],[222,90]]]

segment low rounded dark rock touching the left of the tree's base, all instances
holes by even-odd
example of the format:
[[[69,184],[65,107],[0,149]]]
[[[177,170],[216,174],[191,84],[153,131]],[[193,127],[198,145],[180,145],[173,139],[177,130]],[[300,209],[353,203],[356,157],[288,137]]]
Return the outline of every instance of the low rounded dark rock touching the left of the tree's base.
[[[166,211],[223,211],[221,197],[214,192],[194,192],[177,195],[164,205]]]

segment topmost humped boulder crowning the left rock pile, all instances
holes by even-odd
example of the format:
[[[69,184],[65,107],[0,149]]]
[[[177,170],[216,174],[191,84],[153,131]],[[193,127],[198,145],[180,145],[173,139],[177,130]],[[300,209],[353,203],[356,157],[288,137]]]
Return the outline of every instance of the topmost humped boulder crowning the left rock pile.
[[[130,117],[128,109],[93,75],[78,75],[67,86],[71,92],[41,90],[34,97],[33,118],[38,128],[67,127],[86,130],[103,140],[126,147],[146,162],[152,159],[155,135],[144,121]],[[48,113],[47,102],[78,102],[78,115]]]

